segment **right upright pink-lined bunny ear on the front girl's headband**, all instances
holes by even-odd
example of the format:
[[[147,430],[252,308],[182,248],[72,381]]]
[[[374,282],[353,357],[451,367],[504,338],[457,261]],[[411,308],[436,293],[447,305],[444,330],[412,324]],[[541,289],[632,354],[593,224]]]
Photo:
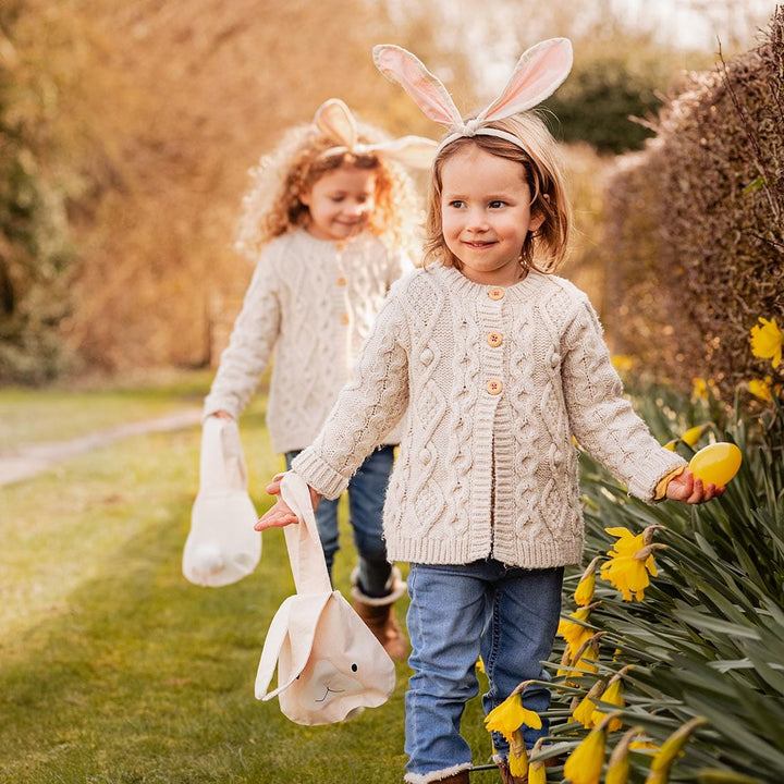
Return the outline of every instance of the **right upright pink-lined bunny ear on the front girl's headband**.
[[[501,120],[518,114],[549,98],[572,70],[572,41],[550,38],[523,52],[503,93],[480,120]]]

